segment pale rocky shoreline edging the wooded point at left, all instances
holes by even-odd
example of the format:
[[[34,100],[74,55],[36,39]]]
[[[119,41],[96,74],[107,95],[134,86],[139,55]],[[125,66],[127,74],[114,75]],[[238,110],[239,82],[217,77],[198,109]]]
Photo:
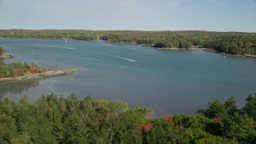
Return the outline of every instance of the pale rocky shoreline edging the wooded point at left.
[[[0,78],[0,82],[21,82],[21,81],[28,81],[28,80],[35,80],[35,79],[60,77],[60,76],[74,74],[79,69],[63,68],[63,69],[46,69],[46,70],[47,71],[44,73],[28,74],[20,77]]]

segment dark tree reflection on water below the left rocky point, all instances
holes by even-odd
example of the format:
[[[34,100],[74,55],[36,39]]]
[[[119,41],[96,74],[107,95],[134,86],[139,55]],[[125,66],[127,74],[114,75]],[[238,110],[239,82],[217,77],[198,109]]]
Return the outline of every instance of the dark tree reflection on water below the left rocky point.
[[[29,90],[31,87],[38,86],[39,80],[31,80],[26,82],[0,82],[0,98],[6,94],[22,94],[23,91]]]

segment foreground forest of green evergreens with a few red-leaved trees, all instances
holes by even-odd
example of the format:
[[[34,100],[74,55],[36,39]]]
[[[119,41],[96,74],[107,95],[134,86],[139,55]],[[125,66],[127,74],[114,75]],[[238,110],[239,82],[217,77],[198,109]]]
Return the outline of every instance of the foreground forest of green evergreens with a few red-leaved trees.
[[[209,102],[195,115],[152,117],[126,102],[42,95],[0,100],[0,143],[255,143],[256,94]]]

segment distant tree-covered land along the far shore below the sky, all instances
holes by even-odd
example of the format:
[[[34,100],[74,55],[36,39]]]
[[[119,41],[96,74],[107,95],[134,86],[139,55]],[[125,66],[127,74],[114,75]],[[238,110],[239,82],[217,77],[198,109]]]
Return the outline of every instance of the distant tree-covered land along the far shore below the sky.
[[[0,38],[68,38],[133,43],[158,48],[209,48],[219,53],[256,55],[256,34],[209,31],[0,30]]]

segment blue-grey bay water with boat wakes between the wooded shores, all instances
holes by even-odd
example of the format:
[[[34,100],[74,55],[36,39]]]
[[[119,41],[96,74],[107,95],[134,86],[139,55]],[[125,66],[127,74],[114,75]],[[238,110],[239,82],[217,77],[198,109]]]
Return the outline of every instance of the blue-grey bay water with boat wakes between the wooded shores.
[[[234,58],[202,50],[162,51],[106,42],[0,39],[14,58],[42,68],[80,68],[72,76],[0,83],[0,97],[34,101],[41,94],[76,93],[79,98],[122,100],[148,106],[156,116],[194,114],[216,98],[234,96],[243,106],[256,92],[256,58]]]

